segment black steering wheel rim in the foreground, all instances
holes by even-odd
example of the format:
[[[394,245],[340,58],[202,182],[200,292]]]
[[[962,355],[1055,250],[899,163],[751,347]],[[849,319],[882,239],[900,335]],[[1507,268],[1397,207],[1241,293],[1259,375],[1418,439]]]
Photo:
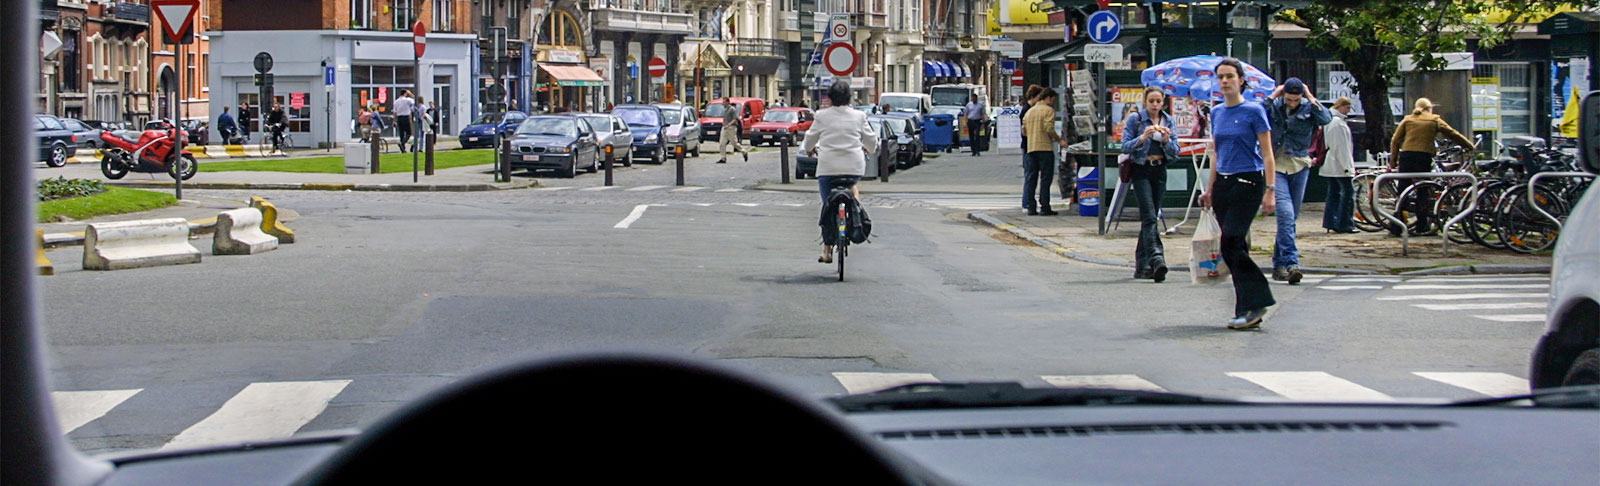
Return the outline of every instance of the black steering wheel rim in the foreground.
[[[837,412],[752,377],[683,358],[592,355],[453,384],[390,414],[299,483],[435,478],[917,484],[933,475]]]

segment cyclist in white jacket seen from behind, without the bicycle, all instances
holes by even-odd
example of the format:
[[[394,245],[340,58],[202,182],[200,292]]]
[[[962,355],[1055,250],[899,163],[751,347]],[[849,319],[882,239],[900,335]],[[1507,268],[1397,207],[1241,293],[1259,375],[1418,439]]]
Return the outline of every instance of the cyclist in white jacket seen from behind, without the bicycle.
[[[867,155],[878,150],[878,134],[867,125],[867,114],[850,106],[850,83],[834,82],[827,86],[827,99],[832,106],[816,112],[816,120],[811,122],[811,129],[800,145],[802,153],[816,157],[816,184],[824,206],[835,181],[850,185],[851,197],[861,198],[854,182],[867,171]],[[818,261],[834,262],[834,248],[827,241],[822,243],[822,256]]]

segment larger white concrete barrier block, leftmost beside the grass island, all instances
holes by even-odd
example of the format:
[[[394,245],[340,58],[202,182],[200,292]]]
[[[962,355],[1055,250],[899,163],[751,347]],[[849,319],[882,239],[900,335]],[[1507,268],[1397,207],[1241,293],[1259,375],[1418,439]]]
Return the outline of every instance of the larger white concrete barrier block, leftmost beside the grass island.
[[[83,270],[198,264],[182,217],[93,222],[83,232]]]

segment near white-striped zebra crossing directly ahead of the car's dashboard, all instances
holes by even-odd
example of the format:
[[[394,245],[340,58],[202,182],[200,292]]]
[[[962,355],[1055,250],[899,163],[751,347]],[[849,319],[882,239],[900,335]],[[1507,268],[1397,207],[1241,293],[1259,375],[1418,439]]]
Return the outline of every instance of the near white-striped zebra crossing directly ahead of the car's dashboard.
[[[1419,398],[1440,398],[1438,390],[1418,390],[1426,384],[1443,384],[1456,390],[1450,398],[1472,398],[1472,396],[1507,396],[1522,395],[1528,392],[1528,380],[1518,376],[1506,372],[1486,372],[1486,371],[1414,371],[1414,372],[1386,372],[1386,374],[1402,374],[1398,377],[1386,377],[1379,384],[1371,387],[1357,384],[1355,380],[1344,379],[1325,371],[1230,371],[1221,372],[1216,379],[1226,379],[1234,384],[1229,390],[1197,390],[1195,385],[1186,382],[1166,382],[1163,379],[1147,379],[1138,374],[1045,374],[1037,376],[1037,380],[1048,387],[1093,387],[1093,388],[1122,388],[1122,390],[1146,390],[1146,392],[1179,392],[1179,393],[1198,393],[1210,396],[1226,396],[1226,398],[1262,398],[1262,400],[1290,400],[1290,401],[1395,401],[1395,400],[1419,400]],[[1035,377],[1018,379],[1018,377],[1000,377],[1000,379],[981,379],[981,380],[1019,380],[1024,385],[1032,384]],[[973,379],[963,379],[973,380]],[[933,384],[941,382],[936,374],[931,372],[858,372],[858,371],[838,371],[830,374],[830,382],[834,384],[830,392],[824,395],[838,393],[867,393],[885,390],[898,385],[907,384]],[[352,380],[349,379],[330,379],[330,380],[296,380],[296,382],[253,382],[240,388],[232,396],[221,400],[216,409],[198,422],[187,425],[182,430],[170,432],[171,438],[160,444],[160,449],[178,449],[178,448],[194,448],[205,444],[219,443],[240,443],[240,441],[262,441],[293,436],[301,432],[302,427],[310,424],[320,414],[323,414],[330,404],[349,408],[350,404],[338,404],[338,398],[344,393]],[[1202,385],[1206,387],[1206,385]],[[1254,390],[1254,392],[1250,392]],[[144,395],[162,395],[166,393],[163,388],[118,388],[118,390],[82,390],[82,392],[54,392],[56,412],[61,422],[61,428],[75,440],[86,440],[94,436],[110,436],[118,435],[117,430],[99,430],[90,427],[94,420],[102,417],[112,417],[118,414],[118,406],[123,403]],[[357,393],[360,395],[360,393]],[[1429,395],[1429,396],[1419,396]],[[160,398],[160,396],[144,396],[144,398]],[[189,406],[186,403],[184,406]],[[366,420],[376,419],[395,404],[387,403],[378,409],[371,411]],[[163,414],[165,409],[144,409],[144,414]],[[138,416],[138,412],[130,412]],[[342,425],[354,427],[355,424]],[[307,430],[310,432],[310,430]]]

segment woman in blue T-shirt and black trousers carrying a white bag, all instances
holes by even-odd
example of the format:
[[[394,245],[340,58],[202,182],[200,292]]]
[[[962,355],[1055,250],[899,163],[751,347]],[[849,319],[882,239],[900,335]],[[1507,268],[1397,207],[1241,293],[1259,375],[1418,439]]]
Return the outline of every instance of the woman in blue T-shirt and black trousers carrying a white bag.
[[[1222,262],[1234,273],[1234,318],[1229,329],[1261,326],[1267,307],[1277,304],[1261,267],[1250,259],[1250,222],[1261,209],[1277,205],[1272,160],[1272,122],[1267,107],[1246,102],[1245,66],[1235,58],[1218,62],[1224,102],[1211,109],[1211,176],[1200,205],[1213,208],[1222,227]]]

